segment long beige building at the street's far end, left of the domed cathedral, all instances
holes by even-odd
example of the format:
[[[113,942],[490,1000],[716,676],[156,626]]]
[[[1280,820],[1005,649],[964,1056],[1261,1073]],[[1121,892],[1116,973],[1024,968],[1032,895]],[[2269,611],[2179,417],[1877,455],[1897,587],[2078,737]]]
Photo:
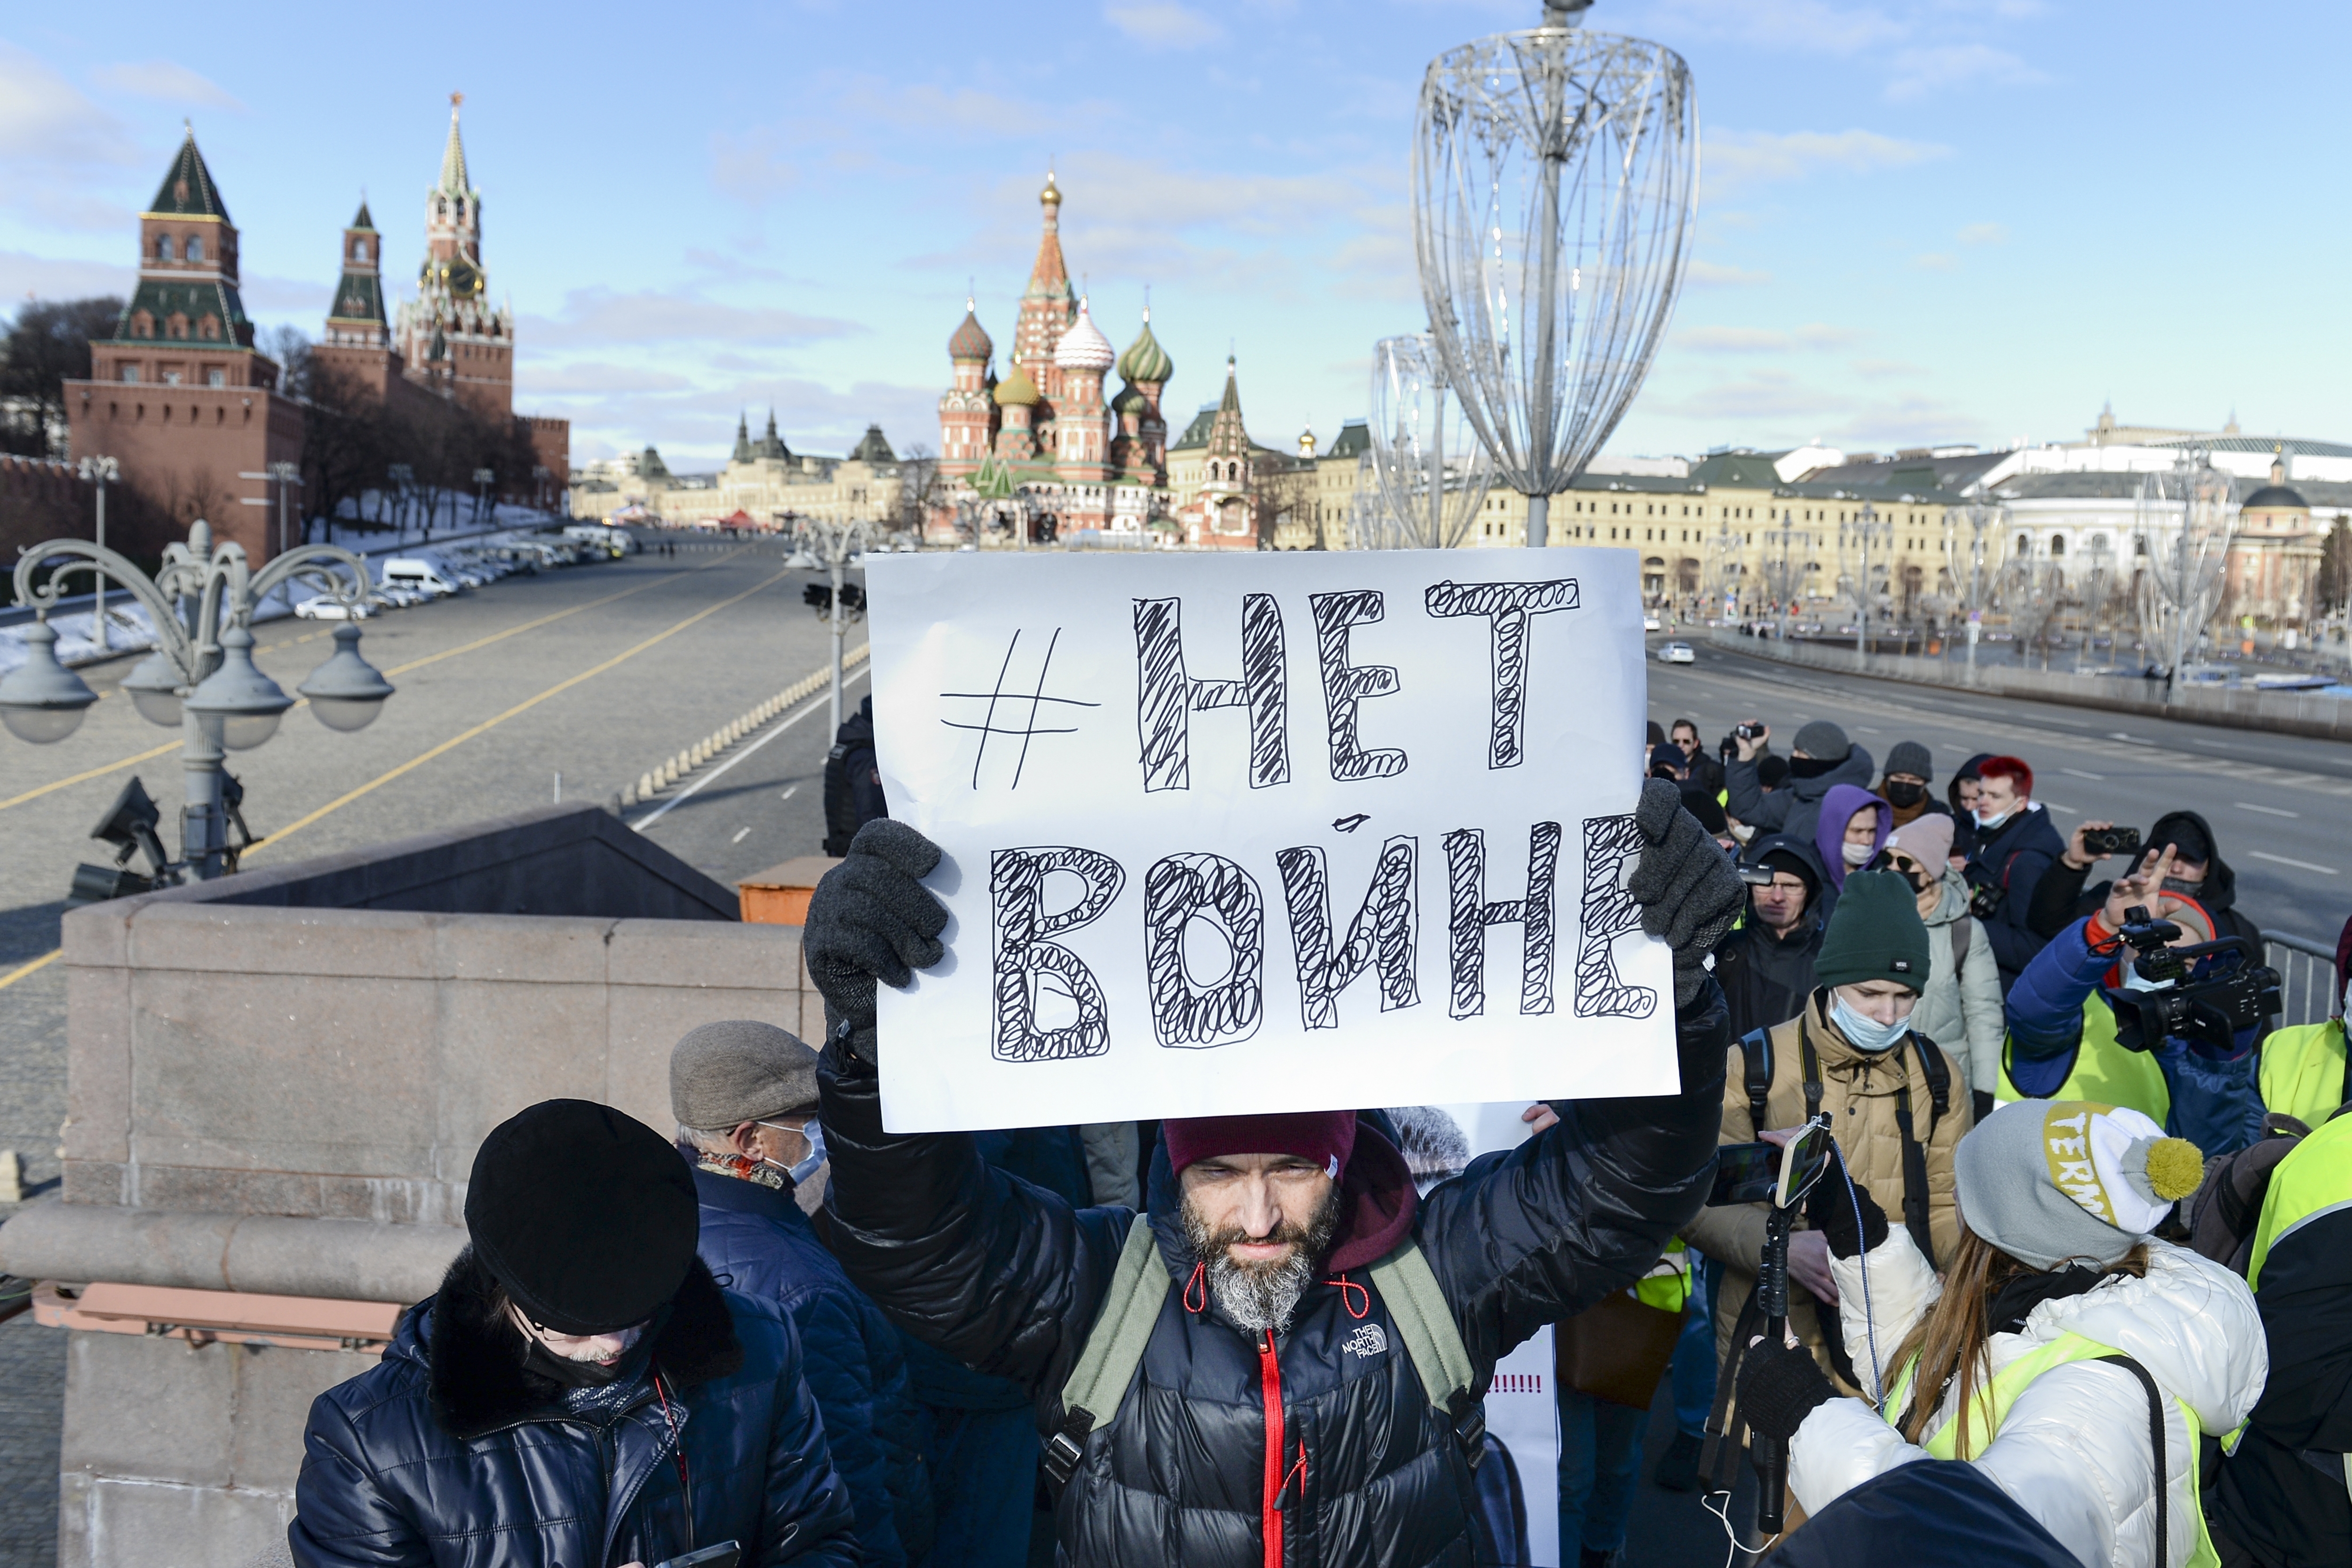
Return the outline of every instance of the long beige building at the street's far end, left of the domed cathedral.
[[[736,444],[715,475],[673,475],[661,451],[590,463],[572,477],[572,515],[600,522],[659,522],[666,527],[788,529],[797,517],[818,522],[880,522],[901,512],[906,465],[891,454],[882,425],[847,458],[795,454],[767,416],[753,440],[736,421]]]

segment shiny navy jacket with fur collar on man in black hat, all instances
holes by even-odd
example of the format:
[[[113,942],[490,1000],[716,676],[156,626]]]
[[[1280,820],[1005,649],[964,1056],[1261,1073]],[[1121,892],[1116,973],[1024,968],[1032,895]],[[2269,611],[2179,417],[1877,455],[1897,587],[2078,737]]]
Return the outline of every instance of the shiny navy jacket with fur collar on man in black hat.
[[[494,1284],[459,1253],[383,1361],[310,1403],[287,1547],[299,1568],[614,1568],[722,1540],[743,1568],[858,1561],[800,1342],[774,1305],[696,1262],[654,1340],[661,1396],[609,1427],[567,1418],[522,1363]],[[607,1483],[607,1476],[609,1483]]]

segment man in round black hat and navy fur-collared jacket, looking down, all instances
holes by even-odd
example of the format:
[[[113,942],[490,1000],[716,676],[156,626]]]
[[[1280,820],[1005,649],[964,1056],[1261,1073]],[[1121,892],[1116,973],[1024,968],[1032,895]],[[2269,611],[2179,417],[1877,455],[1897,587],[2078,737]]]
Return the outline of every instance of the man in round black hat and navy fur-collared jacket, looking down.
[[[642,1121],[546,1100],[494,1126],[440,1291],[310,1403],[296,1568],[861,1561],[800,1338],[720,1288],[699,1229]]]

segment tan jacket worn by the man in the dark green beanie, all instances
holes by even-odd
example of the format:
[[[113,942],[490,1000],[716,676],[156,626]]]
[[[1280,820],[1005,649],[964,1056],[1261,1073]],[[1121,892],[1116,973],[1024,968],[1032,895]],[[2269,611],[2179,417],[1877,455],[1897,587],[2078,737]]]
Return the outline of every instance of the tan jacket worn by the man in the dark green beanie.
[[[1846,1044],[1823,1016],[1820,997],[1813,992],[1802,1018],[1771,1030],[1773,1079],[1766,1131],[1790,1128],[1804,1121],[1804,1051],[1799,1025],[1813,1039],[1820,1060],[1820,1110],[1830,1112],[1837,1147],[1846,1159],[1853,1180],[1870,1187],[1870,1197],[1886,1211],[1886,1222],[1903,1225],[1903,1128],[1896,1124],[1898,1091],[1910,1091],[1912,1133],[1926,1154],[1926,1218],[1929,1237],[1936,1241],[1938,1267],[1952,1260],[1959,1246],[1959,1213],[1952,1206],[1952,1150],[1971,1124],[1969,1079],[1952,1070],[1950,1110],[1938,1119],[1929,1093],[1926,1072],[1910,1041],[1898,1051],[1858,1051]],[[1931,1131],[1933,1124],[1933,1131]],[[1757,1128],[1748,1119],[1748,1074],[1738,1044],[1724,1077],[1724,1126],[1719,1143],[1755,1143]],[[1724,1265],[1722,1284],[1715,1291],[1715,1349],[1717,1366],[1731,1349],[1731,1328],[1740,1307],[1755,1293],[1757,1260],[1764,1255],[1764,1204],[1738,1208],[1700,1208],[1684,1232],[1691,1246]],[[1797,1215],[1797,1229],[1804,1229]],[[1790,1291],[1790,1328],[1802,1338],[1823,1371],[1830,1371],[1820,1324],[1813,1302],[1802,1291]],[[1844,1385],[1842,1385],[1844,1387]],[[1844,1389],[1856,1392],[1856,1389]]]

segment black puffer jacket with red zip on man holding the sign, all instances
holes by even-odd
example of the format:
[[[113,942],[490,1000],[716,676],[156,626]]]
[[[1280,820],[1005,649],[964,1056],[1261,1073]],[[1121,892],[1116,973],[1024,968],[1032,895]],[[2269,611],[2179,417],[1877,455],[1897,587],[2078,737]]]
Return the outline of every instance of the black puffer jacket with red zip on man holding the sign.
[[[1484,1394],[1498,1356],[1630,1284],[1698,1213],[1726,1041],[1708,985],[1679,1020],[1682,1095],[1564,1103],[1557,1128],[1475,1161],[1418,1211],[1395,1147],[1359,1133],[1341,1185],[1362,1220],[1272,1345],[1237,1331],[1195,1279],[1174,1182],[1157,1182],[1152,1232],[1174,1288],[1136,1385],[1061,1493],[1063,1559],[1468,1568],[1470,1467],[1369,1288],[1376,1255],[1350,1260],[1348,1239],[1414,1234]],[[922,1340],[1033,1389],[1040,1427],[1056,1429],[1134,1215],[1070,1208],[990,1171],[962,1133],[884,1133],[873,1072],[840,1046],[818,1091],[830,1244],[849,1276]],[[1265,1544],[1277,1535],[1279,1556]]]

